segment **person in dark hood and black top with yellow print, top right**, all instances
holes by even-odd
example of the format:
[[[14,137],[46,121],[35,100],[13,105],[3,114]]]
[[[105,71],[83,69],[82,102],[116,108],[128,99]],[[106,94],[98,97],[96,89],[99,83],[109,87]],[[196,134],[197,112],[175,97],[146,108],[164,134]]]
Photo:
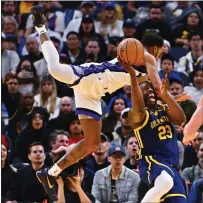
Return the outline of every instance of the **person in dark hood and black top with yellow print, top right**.
[[[188,12],[183,13],[181,19],[182,22],[172,30],[173,45],[188,48],[188,39],[190,40],[188,34],[198,30],[202,31],[203,18],[198,9],[189,9]]]

